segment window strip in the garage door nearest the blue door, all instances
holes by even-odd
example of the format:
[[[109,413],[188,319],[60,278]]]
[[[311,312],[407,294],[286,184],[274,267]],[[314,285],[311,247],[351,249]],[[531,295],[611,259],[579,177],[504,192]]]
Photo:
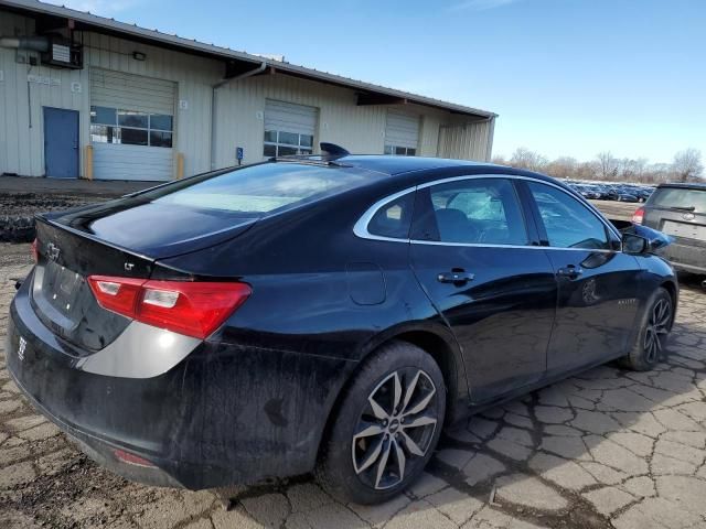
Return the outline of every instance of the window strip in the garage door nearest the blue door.
[[[164,114],[90,107],[90,141],[171,148],[173,122],[173,116]]]

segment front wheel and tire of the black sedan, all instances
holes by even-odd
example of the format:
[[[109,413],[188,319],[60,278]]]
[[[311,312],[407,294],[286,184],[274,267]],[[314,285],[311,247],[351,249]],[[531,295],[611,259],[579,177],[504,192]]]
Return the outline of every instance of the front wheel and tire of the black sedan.
[[[648,371],[660,361],[674,320],[672,296],[662,287],[652,294],[645,306],[635,344],[622,359],[623,367],[634,371]]]

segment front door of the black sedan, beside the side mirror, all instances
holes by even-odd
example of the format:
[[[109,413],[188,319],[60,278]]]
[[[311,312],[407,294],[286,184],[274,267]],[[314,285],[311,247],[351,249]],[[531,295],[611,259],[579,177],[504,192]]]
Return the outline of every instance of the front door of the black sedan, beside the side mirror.
[[[548,376],[625,354],[639,307],[635,257],[590,207],[554,184],[525,181],[558,285]]]

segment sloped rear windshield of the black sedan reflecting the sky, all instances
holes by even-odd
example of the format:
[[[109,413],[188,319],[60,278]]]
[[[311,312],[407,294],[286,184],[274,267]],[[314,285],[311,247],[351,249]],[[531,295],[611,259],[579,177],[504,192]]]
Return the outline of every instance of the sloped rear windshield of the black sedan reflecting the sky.
[[[139,195],[156,204],[259,217],[364,185],[378,173],[355,168],[265,163],[194,176]]]

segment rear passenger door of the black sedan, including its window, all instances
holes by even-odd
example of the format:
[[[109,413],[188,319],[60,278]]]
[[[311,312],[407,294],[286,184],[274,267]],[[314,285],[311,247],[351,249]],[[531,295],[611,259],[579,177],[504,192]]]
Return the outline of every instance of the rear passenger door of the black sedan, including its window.
[[[471,400],[539,380],[556,282],[513,181],[454,177],[419,186],[410,263],[461,346]]]

